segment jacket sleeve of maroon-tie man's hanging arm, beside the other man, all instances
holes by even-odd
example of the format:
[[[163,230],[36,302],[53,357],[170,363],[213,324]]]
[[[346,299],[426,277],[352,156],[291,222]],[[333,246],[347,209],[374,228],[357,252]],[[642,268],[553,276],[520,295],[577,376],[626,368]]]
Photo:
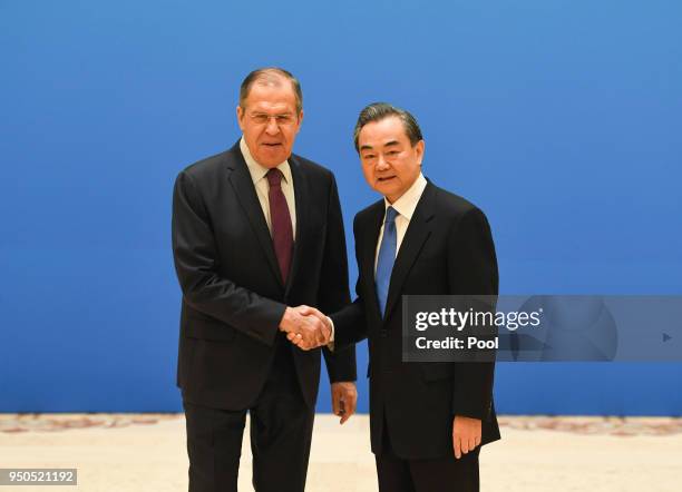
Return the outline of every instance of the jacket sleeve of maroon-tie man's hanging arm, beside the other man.
[[[318,291],[319,308],[325,314],[341,309],[350,303],[348,287],[348,253],[337,181],[332,175],[327,217],[327,237],[322,275]],[[355,381],[355,346],[338,347],[334,352],[322,350],[331,383]]]

